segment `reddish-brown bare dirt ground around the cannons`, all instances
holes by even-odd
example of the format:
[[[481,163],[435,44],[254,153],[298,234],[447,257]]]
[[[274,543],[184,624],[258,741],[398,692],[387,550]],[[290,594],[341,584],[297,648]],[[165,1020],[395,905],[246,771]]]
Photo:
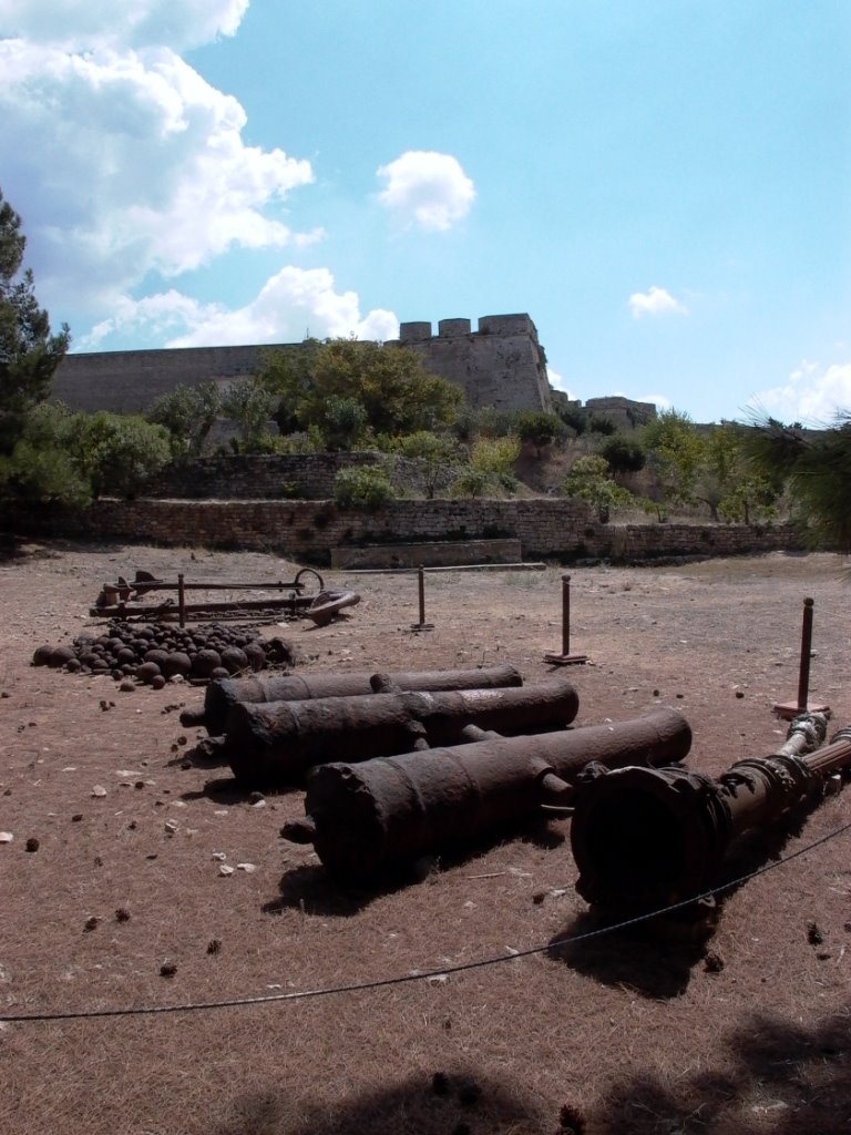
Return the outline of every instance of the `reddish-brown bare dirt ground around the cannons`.
[[[418,885],[343,893],[311,848],[279,836],[301,792],[255,807],[210,790],[227,770],[183,767],[202,733],[182,729],[178,707],[199,707],[202,691],[121,693],[109,678],[28,665],[40,644],[94,625],[89,606],[119,573],[278,579],[296,566],[69,544],[0,561],[0,831],[14,835],[0,844],[0,1016],[185,1007],[508,960],[297,1001],[5,1020],[0,1132],[851,1132],[851,833],[736,890],[702,948],[621,933],[511,960],[588,927],[568,819]],[[430,574],[435,629],[421,634],[414,577],[329,573],[362,594],[349,617],[270,630],[310,671],[507,661],[534,681],[561,648],[561,573]],[[851,583],[836,557],[571,574],[572,647],[590,656],[570,671],[576,724],[674,706],[693,728],[692,767],[717,774],[770,753],[785,733],[772,705],[797,693],[804,596],[811,695],[832,706],[832,730],[851,724]],[[845,792],[783,856],[849,823]],[[225,877],[217,854],[255,869]]]

